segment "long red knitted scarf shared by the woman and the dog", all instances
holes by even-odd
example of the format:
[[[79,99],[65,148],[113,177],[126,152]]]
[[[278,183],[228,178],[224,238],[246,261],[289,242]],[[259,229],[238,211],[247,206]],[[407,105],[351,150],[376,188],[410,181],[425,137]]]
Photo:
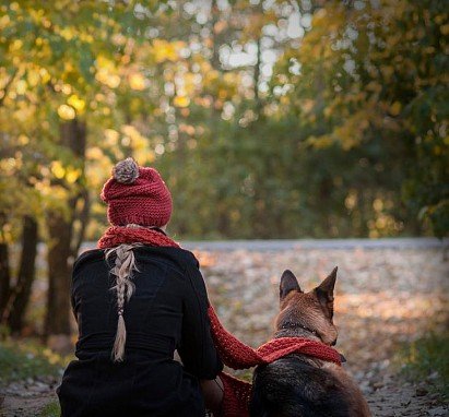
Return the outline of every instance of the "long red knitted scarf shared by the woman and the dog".
[[[98,240],[98,248],[108,249],[121,243],[138,242],[152,247],[180,248],[178,243],[159,229],[122,226],[109,227]],[[211,321],[211,333],[215,348],[223,362],[233,369],[247,369],[258,365],[271,364],[290,354],[303,354],[316,359],[341,365],[341,356],[335,349],[321,342],[304,337],[274,338],[258,349],[253,349],[223,327],[211,305],[209,306],[208,314]],[[224,384],[222,416],[249,416],[251,384],[225,372],[221,372],[220,378]]]

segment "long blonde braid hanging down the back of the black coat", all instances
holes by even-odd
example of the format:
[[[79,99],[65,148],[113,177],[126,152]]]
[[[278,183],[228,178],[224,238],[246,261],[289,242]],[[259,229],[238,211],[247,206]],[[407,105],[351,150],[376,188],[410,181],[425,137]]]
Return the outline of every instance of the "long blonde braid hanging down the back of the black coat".
[[[134,293],[135,285],[131,281],[132,273],[139,272],[135,265],[133,248],[141,246],[140,243],[122,243],[117,248],[111,248],[106,251],[106,260],[108,260],[114,253],[116,254],[115,265],[110,270],[110,274],[116,277],[116,285],[110,288],[117,291],[117,311],[118,323],[116,339],[113,348],[113,360],[122,361],[125,356],[125,343],[127,341],[127,329],[125,326],[123,308],[125,301],[129,301]],[[126,299],[125,299],[126,298]]]

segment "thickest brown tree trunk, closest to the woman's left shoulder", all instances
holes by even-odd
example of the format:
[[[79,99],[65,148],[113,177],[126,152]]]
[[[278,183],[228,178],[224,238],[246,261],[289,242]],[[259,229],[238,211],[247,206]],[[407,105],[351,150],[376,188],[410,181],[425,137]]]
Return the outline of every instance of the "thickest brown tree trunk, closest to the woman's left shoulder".
[[[76,192],[67,201],[67,213],[51,211],[47,215],[49,247],[48,247],[48,297],[47,317],[45,322],[45,334],[70,335],[70,277],[71,267],[76,253],[78,245],[82,241],[84,226],[79,227],[79,236],[75,235],[74,222],[80,221],[76,207],[80,200],[85,195],[84,186],[84,155],[86,146],[86,126],[74,119],[61,126],[61,144],[73,153],[75,162],[83,170],[79,181],[73,184],[78,187]],[[69,186],[66,184],[68,188]],[[82,207],[86,207],[84,201]],[[83,208],[82,208],[83,210]],[[82,222],[87,216],[82,215]],[[64,346],[63,346],[64,347]]]

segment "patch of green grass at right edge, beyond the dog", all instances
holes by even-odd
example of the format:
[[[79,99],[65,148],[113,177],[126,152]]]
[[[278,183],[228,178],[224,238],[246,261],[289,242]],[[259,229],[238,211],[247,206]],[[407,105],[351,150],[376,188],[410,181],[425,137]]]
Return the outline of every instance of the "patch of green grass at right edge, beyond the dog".
[[[397,362],[413,381],[426,380],[433,391],[449,400],[449,332],[430,333],[399,349]]]

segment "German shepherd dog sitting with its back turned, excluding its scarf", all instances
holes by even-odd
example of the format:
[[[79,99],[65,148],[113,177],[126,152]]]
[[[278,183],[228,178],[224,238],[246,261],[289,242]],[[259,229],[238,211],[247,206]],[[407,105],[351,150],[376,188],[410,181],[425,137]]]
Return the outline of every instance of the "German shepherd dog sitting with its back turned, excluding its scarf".
[[[336,329],[333,288],[336,267],[310,293],[285,271],[274,338],[307,337],[333,346]],[[292,354],[258,366],[252,379],[251,417],[369,417],[368,405],[344,369],[333,362]]]

